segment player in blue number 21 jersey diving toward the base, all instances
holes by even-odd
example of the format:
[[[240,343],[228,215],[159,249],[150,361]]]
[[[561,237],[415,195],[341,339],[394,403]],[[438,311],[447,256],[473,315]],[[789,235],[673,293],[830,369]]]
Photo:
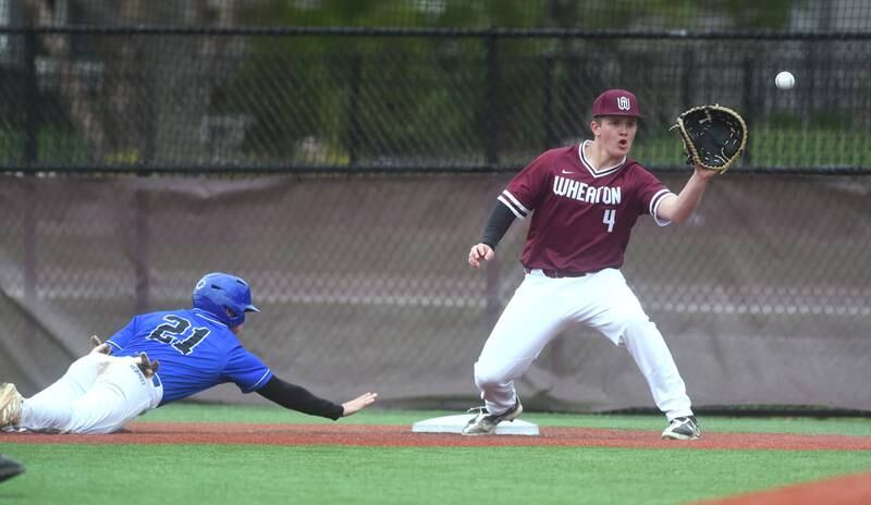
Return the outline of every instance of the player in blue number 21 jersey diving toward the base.
[[[60,433],[111,433],[135,417],[213,385],[235,383],[285,408],[336,420],[375,402],[366,393],[342,405],[275,377],[237,338],[252,304],[248,284],[209,273],[196,284],[193,308],[134,317],[38,394],[24,398],[0,385],[0,428]]]

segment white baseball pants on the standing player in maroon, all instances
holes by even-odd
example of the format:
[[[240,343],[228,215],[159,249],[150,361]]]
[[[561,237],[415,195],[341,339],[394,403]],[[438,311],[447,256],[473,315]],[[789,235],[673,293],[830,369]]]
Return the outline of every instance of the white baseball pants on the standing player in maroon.
[[[475,384],[490,412],[514,406],[514,380],[526,373],[554,336],[575,323],[626,346],[670,421],[692,415],[662,334],[616,269],[581,278],[550,279],[540,270],[526,274],[475,364]]]

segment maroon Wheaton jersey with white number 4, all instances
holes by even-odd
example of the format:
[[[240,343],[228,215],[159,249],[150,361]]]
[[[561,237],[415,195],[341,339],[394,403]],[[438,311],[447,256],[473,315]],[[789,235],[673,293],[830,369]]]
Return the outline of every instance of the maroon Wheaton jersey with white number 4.
[[[577,274],[619,268],[638,217],[655,219],[672,194],[629,158],[594,172],[581,146],[542,153],[499,197],[520,219],[535,211],[520,258],[528,269]]]

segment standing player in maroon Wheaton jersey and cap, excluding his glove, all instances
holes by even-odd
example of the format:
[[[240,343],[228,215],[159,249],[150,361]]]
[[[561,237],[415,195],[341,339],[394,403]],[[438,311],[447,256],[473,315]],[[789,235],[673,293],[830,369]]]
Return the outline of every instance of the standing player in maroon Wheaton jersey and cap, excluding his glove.
[[[610,89],[592,106],[592,140],[545,151],[510,183],[469,251],[478,268],[515,219],[530,219],[520,262],[526,276],[475,364],[484,406],[463,433],[489,434],[523,411],[514,380],[545,345],[574,323],[624,345],[645,375],[668,427],[663,439],[700,436],[684,380],[657,325],[619,271],[639,215],[660,226],[686,221],[715,174],[696,167],[675,195],[628,158],[641,115],[635,95]]]

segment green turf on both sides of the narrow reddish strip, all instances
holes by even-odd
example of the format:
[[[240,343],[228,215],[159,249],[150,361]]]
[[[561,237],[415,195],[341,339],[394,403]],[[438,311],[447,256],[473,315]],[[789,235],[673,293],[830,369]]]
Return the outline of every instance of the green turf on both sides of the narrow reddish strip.
[[[347,424],[408,424],[444,411],[370,409]],[[651,430],[659,416],[530,412],[542,427]],[[181,404],[140,421],[331,423],[278,407]],[[707,432],[871,436],[863,418],[706,417]],[[26,436],[26,435],[24,435]],[[27,472],[2,504],[677,504],[871,470],[867,451],[0,443]]]

